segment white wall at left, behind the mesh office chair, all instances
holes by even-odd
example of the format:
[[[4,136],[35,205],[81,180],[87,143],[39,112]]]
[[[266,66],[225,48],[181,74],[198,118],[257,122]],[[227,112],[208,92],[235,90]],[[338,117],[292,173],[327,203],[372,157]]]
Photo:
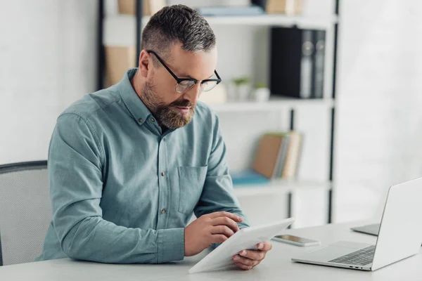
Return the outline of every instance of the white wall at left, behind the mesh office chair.
[[[0,164],[46,159],[58,114],[94,91],[96,1],[0,8]]]

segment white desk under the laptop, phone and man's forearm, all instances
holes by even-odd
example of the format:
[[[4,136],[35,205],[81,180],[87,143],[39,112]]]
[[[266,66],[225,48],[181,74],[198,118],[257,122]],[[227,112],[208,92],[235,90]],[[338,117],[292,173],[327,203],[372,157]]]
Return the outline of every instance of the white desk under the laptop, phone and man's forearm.
[[[364,222],[367,223],[367,222]],[[315,228],[286,230],[286,233],[320,240],[322,244],[338,240],[375,243],[376,237],[349,230],[359,223],[333,224]],[[418,254],[374,272],[293,263],[290,257],[317,247],[296,247],[273,242],[273,249],[262,263],[249,271],[225,270],[188,274],[205,251],[184,261],[160,265],[117,265],[58,259],[0,267],[0,280],[84,281],[84,280],[422,280],[422,255]]]

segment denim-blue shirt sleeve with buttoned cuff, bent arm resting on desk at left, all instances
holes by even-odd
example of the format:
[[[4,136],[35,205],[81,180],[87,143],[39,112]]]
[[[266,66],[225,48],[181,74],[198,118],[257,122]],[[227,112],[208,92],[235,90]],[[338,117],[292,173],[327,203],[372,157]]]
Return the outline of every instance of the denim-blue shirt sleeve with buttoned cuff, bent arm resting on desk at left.
[[[89,120],[58,118],[49,147],[53,226],[72,259],[103,263],[165,263],[184,259],[184,228],[125,228],[102,218],[105,153]]]

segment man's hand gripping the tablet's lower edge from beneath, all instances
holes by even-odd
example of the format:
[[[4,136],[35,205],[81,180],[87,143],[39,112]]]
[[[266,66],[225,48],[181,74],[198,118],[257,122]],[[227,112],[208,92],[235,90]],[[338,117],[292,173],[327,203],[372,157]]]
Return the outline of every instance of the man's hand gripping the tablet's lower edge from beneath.
[[[271,250],[272,245],[270,242],[262,242],[257,244],[257,248],[257,250],[242,250],[239,254],[234,255],[234,264],[243,270],[250,270],[260,264],[267,255],[267,251]]]

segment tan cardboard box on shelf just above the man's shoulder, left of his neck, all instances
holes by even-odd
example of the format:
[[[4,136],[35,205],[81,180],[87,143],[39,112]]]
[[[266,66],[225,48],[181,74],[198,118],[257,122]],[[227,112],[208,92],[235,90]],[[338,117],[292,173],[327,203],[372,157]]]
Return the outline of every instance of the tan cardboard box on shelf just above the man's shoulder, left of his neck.
[[[135,46],[106,46],[106,84],[111,86],[120,81],[124,72],[136,67]]]

